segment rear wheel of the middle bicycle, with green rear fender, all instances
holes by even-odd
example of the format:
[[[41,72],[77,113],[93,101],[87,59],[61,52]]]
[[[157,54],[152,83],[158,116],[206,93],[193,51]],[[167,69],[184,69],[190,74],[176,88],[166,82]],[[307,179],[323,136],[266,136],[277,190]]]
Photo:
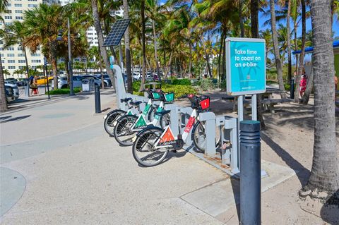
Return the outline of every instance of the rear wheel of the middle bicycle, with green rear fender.
[[[114,138],[120,145],[133,145],[132,139],[136,134],[131,128],[137,119],[138,116],[124,115],[117,120],[117,125],[114,126]]]

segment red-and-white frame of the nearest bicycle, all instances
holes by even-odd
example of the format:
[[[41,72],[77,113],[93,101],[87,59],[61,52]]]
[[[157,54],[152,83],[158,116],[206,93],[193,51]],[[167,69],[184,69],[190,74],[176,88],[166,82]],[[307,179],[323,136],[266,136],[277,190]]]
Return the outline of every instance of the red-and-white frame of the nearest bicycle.
[[[186,123],[184,133],[182,134],[181,138],[179,135],[178,137],[174,137],[171,128],[167,126],[164,132],[162,132],[162,134],[160,135],[160,138],[155,142],[154,147],[156,149],[164,148],[164,147],[173,147],[173,145],[175,145],[177,143],[177,140],[179,139],[185,142],[185,140],[189,136],[189,132],[194,126],[196,119],[198,119],[198,114],[196,112],[196,109],[193,109],[191,116],[189,117],[189,121],[187,121]]]

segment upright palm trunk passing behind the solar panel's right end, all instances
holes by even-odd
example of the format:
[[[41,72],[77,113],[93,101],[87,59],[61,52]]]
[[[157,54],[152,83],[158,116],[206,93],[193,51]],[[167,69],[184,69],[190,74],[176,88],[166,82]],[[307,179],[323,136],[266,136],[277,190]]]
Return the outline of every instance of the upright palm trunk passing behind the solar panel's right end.
[[[124,3],[124,19],[129,18],[129,3],[127,0]],[[125,57],[126,57],[126,73],[127,73],[127,92],[133,93],[132,89],[132,71],[131,71],[131,49],[129,47],[129,28],[125,31]]]

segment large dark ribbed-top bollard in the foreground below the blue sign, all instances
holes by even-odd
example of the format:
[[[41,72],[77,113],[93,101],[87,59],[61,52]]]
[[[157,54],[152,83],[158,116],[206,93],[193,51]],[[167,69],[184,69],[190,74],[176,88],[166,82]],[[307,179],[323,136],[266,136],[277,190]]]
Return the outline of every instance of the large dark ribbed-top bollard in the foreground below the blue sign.
[[[261,224],[260,122],[240,122],[240,224]]]

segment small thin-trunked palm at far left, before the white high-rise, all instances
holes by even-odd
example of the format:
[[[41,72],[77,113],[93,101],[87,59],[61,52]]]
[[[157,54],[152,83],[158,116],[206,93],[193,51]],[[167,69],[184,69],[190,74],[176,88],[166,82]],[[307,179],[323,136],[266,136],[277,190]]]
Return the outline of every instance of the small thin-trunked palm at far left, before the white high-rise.
[[[26,62],[26,78],[30,77],[30,73],[28,70],[28,59],[27,59],[27,51],[26,46],[24,44],[25,35],[25,25],[20,23],[18,20],[13,21],[13,24],[6,25],[7,30],[11,30],[6,32],[4,38],[4,47],[11,47],[15,44],[18,44],[23,49],[23,54],[25,54],[25,62]]]

